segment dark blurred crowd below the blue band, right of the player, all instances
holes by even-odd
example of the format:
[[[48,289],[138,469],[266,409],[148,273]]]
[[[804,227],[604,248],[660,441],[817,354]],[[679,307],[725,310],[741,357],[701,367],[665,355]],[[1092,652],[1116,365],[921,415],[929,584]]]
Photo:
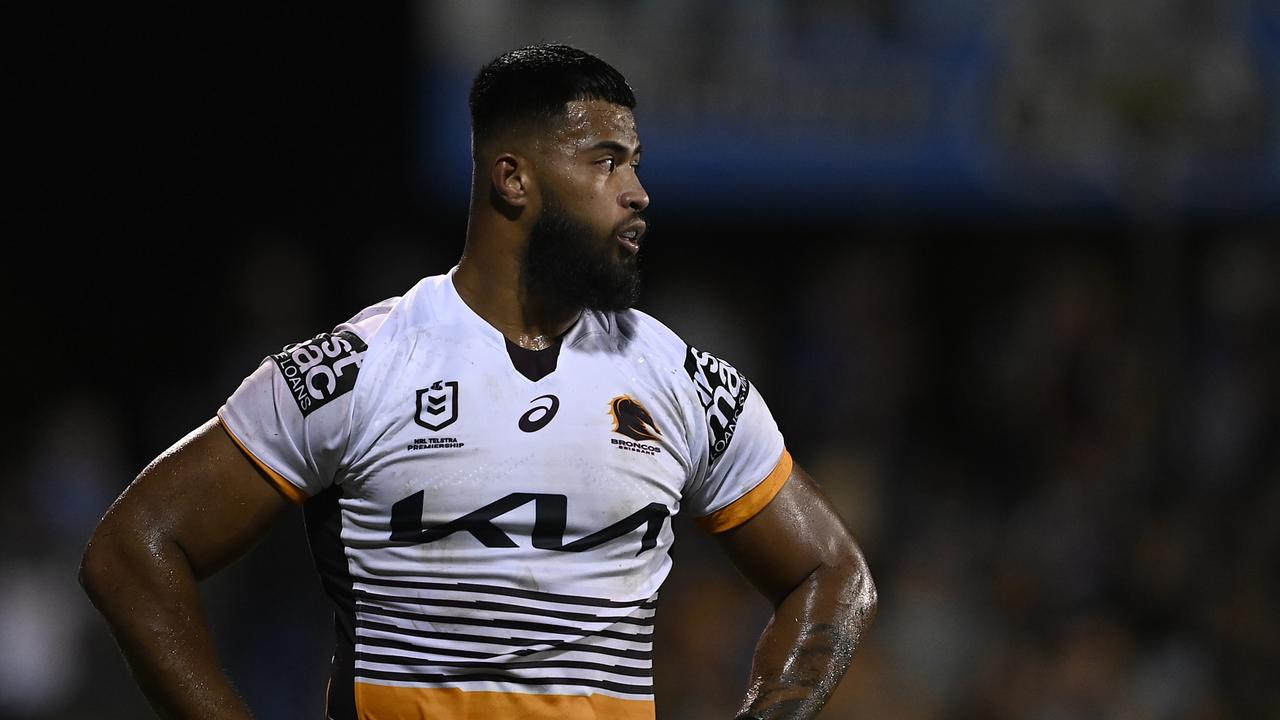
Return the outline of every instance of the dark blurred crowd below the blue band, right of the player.
[[[855,245],[796,275],[772,404],[881,588],[824,716],[1280,712],[1277,229],[1188,243],[1158,309],[1123,242]],[[698,629],[668,662],[740,679],[745,637]],[[740,691],[668,680],[671,717]]]

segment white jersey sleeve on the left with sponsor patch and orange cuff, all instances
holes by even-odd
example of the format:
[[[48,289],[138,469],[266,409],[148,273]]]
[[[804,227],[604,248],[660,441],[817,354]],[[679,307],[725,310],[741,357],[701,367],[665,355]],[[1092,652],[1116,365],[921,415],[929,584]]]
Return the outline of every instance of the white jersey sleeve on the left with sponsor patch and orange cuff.
[[[291,345],[266,357],[218,410],[232,439],[293,502],[334,482],[366,351],[358,334],[342,328]]]

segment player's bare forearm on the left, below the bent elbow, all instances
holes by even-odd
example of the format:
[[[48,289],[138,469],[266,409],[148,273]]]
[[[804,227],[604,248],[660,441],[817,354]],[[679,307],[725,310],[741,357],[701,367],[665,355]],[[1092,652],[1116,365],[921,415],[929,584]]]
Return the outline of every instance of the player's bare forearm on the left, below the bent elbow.
[[[161,717],[251,717],[219,666],[197,580],[180,547],[95,537],[81,583]]]

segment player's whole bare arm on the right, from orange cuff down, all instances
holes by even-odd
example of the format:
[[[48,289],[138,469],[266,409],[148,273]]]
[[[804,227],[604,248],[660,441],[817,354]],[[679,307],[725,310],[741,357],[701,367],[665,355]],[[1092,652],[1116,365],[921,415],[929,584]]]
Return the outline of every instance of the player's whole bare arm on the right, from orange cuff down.
[[[764,510],[719,538],[773,603],[740,717],[815,717],[876,615],[863,553],[799,465]]]

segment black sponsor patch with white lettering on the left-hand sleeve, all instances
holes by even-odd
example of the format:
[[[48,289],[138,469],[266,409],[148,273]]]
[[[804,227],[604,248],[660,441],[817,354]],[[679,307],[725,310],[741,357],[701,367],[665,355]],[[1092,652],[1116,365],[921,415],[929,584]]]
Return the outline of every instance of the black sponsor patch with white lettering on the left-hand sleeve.
[[[356,387],[369,346],[353,332],[320,333],[271,356],[302,416]]]

